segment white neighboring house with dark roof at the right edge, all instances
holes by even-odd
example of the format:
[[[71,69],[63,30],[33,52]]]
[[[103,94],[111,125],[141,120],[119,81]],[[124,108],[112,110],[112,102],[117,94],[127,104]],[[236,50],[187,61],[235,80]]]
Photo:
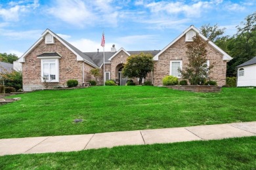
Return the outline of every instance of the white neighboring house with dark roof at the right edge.
[[[256,57],[238,65],[236,86],[256,86]]]

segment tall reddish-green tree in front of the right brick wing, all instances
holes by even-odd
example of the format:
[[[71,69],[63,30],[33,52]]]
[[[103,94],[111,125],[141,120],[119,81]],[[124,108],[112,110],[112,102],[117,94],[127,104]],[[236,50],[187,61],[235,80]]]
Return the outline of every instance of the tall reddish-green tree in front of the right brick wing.
[[[191,85],[200,84],[205,79],[209,80],[209,74],[213,64],[207,66],[207,50],[205,49],[208,41],[203,41],[198,35],[193,38],[193,42],[186,45],[186,57],[188,65],[184,69],[179,69],[181,77],[188,79]]]

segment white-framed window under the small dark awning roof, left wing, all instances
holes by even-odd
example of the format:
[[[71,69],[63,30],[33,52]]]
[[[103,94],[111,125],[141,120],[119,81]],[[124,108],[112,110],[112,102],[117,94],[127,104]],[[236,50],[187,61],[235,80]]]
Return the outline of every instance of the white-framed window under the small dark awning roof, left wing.
[[[41,80],[47,82],[58,82],[58,58],[56,59],[41,59]]]

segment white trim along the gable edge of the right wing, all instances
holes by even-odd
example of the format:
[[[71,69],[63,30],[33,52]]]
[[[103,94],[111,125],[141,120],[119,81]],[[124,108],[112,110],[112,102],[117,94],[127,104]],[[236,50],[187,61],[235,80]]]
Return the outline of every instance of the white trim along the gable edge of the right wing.
[[[161,50],[158,54],[156,54],[156,56],[154,56],[154,60],[158,61],[159,56],[165,52],[165,50],[167,50],[170,46],[172,46],[175,42],[177,42],[179,39],[181,39],[181,37],[183,37],[188,31],[193,30],[196,31],[196,33],[198,33],[198,35],[205,41],[207,41],[207,38],[205,36],[202,35],[202,33],[200,33],[200,31],[194,27],[194,25],[191,25],[190,27],[188,27],[181,35],[179,35],[179,37],[177,37],[176,39],[174,39],[172,42],[170,42],[167,46],[165,46],[165,48],[163,48],[163,50]],[[210,44],[211,46],[213,46],[213,48],[215,48],[215,50],[217,50],[218,52],[220,52],[221,54],[223,54],[223,60],[227,60],[230,61],[232,59],[232,57],[230,57],[228,54],[226,54],[226,52],[224,52],[223,50],[221,50],[221,48],[219,48],[219,46],[215,45],[213,42],[209,41],[208,44]]]

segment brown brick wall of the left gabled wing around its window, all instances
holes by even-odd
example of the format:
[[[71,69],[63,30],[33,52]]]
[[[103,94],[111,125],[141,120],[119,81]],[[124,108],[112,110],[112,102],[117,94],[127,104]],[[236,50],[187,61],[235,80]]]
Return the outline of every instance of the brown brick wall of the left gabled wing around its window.
[[[54,39],[54,44],[45,44],[43,40],[26,56],[25,63],[22,63],[24,91],[45,88],[41,82],[41,59],[37,58],[39,54],[45,52],[58,52],[62,56],[59,60],[59,82],[49,82],[49,88],[66,86],[66,81],[70,79],[78,80],[79,85],[83,83],[83,61],[77,61],[75,54],[57,39]],[[89,71],[93,67],[87,63],[84,65],[85,82],[87,82],[92,78]]]

